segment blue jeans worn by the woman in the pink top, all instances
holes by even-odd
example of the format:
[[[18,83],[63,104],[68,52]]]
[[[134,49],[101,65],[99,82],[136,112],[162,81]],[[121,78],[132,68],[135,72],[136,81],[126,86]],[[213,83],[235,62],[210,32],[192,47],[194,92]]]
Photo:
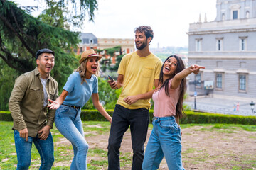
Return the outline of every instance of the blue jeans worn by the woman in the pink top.
[[[144,170],[158,169],[165,157],[171,170],[183,169],[181,161],[181,128],[175,117],[153,118],[153,130],[146,145]]]

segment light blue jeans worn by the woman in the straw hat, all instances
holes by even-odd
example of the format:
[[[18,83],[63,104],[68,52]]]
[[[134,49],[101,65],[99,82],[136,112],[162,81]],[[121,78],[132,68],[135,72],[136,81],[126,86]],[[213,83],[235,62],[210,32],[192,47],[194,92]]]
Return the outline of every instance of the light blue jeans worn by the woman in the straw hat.
[[[73,146],[74,158],[70,169],[86,169],[86,158],[89,145],[82,129],[81,109],[60,105],[55,113],[55,125],[60,133]]]

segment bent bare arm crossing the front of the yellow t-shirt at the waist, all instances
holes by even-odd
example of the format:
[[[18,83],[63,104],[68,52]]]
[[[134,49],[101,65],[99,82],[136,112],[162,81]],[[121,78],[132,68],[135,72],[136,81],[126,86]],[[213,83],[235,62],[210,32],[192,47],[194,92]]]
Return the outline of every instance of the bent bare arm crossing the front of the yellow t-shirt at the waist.
[[[159,86],[159,79],[154,79],[154,84],[155,84],[155,87]],[[137,94],[135,96],[128,96],[127,98],[124,98],[124,102],[131,105],[132,103],[135,103],[138,100],[152,98],[154,91],[155,90],[151,90],[149,92],[146,92],[145,94]]]

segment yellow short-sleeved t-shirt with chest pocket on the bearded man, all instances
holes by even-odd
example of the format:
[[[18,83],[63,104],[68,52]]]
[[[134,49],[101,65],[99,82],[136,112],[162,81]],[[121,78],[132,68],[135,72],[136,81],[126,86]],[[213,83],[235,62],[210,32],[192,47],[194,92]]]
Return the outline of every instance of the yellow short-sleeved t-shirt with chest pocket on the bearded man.
[[[117,71],[118,74],[124,76],[122,92],[117,104],[129,109],[149,109],[151,107],[150,99],[139,100],[129,105],[124,102],[124,98],[151,91],[154,79],[159,79],[161,66],[161,59],[152,53],[146,57],[139,57],[136,52],[124,55]]]

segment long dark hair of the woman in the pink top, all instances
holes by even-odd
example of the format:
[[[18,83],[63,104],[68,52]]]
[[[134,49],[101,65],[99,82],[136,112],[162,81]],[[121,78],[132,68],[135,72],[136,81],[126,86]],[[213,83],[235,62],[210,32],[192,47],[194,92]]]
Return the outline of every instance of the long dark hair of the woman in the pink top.
[[[181,72],[183,69],[185,69],[185,64],[183,63],[183,60],[181,59],[181,57],[178,57],[177,55],[171,55],[169,56],[164,63],[170,58],[170,57],[175,57],[177,60],[177,67],[176,67],[176,72],[174,72],[173,75],[171,75],[171,77],[169,79],[166,79],[164,81],[164,73],[163,73],[163,69],[164,69],[164,64],[161,67],[161,71],[160,71],[160,77],[159,77],[159,84],[161,85],[159,89],[157,89],[157,91],[159,91],[160,89],[164,88],[166,95],[170,96],[169,94],[169,81],[170,79],[173,79],[174,76]],[[184,94],[186,91],[186,78],[181,80],[181,84],[179,86],[179,97],[178,97],[178,103],[176,105],[176,118],[181,119],[183,117],[184,111],[183,111],[183,98],[184,98]]]

